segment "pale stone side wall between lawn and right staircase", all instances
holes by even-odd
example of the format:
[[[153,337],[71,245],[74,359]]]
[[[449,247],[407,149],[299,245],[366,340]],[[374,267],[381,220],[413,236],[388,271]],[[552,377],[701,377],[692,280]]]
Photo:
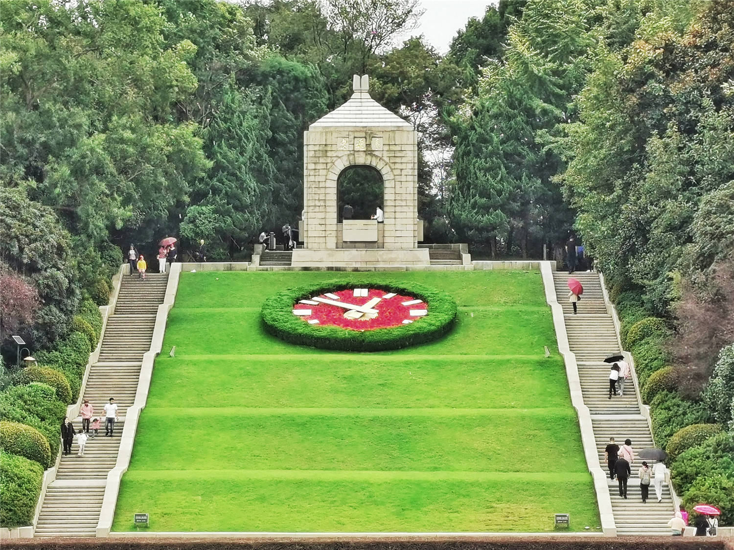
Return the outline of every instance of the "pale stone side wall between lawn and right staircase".
[[[566,367],[566,377],[571,394],[571,405],[575,408],[578,416],[578,427],[581,430],[581,444],[584,446],[586,466],[589,468],[589,473],[592,474],[592,480],[594,482],[602,532],[607,537],[616,537],[617,524],[614,522],[614,512],[611,507],[611,495],[609,494],[606,472],[603,471],[599,463],[599,452],[594,436],[591,412],[584,403],[584,394],[581,391],[581,378],[578,375],[576,355],[571,351],[568,344],[568,333],[566,331],[563,308],[558,303],[558,297],[556,296],[556,283],[553,279],[556,262],[547,260],[540,261],[539,267],[543,286],[545,286],[545,302],[551,308],[558,350]]]

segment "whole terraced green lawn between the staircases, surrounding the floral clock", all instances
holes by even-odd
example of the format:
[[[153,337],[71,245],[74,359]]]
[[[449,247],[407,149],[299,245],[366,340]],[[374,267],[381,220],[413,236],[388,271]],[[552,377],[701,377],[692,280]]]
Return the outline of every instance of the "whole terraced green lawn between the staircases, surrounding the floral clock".
[[[537,272],[354,274],[457,300],[450,335],[406,350],[261,329],[269,294],[340,275],[183,273],[113,530],[136,512],[156,531],[597,529]]]

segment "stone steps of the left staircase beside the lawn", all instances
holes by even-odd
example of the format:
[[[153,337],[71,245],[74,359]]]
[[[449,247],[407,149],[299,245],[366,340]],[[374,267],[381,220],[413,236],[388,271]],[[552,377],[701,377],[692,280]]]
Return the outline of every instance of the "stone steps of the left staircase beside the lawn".
[[[128,407],[133,405],[138,386],[142,355],[150,350],[158,305],[163,303],[168,275],[149,274],[145,281],[123,277],[114,313],[107,319],[97,363],[90,368],[84,399],[103,416],[110,397],[117,403],[115,431],[100,433],[87,441],[84,456],[77,455],[76,441],[72,454],[62,455],[56,480],[48,485],[43,499],[36,537],[93,537],[99,521],[107,474],[115,467],[120,438]],[[77,431],[81,420],[74,421]]]

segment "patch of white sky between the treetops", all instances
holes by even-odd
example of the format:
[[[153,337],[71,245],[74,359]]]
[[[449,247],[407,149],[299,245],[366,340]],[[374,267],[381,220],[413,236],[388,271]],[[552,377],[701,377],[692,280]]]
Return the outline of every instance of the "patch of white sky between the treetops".
[[[419,3],[425,12],[418,28],[410,34],[424,35],[426,42],[440,54],[446,54],[457,31],[472,17],[481,19],[487,6],[496,6],[498,0],[421,0]]]

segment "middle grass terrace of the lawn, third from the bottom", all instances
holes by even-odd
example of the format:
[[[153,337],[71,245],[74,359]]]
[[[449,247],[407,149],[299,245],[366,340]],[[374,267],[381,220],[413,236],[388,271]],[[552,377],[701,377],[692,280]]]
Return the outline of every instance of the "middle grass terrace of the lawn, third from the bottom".
[[[568,408],[560,357],[389,355],[156,360],[146,411],[169,407]],[[192,392],[192,388],[197,391]],[[147,413],[146,413],[147,414]],[[145,416],[145,415],[143,415]]]

